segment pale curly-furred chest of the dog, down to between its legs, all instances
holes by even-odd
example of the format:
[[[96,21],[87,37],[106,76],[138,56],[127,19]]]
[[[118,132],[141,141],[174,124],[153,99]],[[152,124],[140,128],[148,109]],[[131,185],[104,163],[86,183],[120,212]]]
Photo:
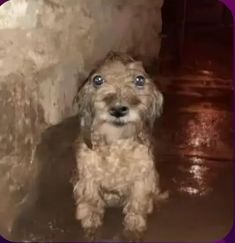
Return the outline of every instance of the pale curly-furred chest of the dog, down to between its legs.
[[[108,205],[120,204],[130,187],[154,171],[149,147],[134,139],[119,139],[90,150],[83,144],[78,155],[79,176],[93,181]]]

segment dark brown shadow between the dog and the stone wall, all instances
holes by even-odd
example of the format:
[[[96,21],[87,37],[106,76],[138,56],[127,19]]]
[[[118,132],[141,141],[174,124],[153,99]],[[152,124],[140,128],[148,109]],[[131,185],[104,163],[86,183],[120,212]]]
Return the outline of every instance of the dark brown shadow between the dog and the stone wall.
[[[14,240],[72,241],[78,238],[80,225],[74,219],[70,183],[76,164],[73,143],[77,135],[77,117],[50,127],[42,134],[36,151],[35,161],[39,163],[36,188],[15,222]]]

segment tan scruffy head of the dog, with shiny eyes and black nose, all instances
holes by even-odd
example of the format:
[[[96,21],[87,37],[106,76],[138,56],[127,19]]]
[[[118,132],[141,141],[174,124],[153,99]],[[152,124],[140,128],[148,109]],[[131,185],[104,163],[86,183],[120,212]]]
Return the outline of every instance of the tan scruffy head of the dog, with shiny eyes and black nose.
[[[95,122],[151,128],[163,105],[163,96],[142,63],[115,53],[89,76],[77,97],[82,127]]]

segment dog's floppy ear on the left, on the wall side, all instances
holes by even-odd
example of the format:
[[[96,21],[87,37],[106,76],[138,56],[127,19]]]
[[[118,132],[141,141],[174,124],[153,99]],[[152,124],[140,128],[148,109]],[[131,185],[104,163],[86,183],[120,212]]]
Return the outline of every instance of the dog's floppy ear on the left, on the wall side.
[[[79,88],[74,102],[78,105],[80,134],[88,148],[91,149],[92,142],[90,129],[93,120],[92,90],[87,80]]]

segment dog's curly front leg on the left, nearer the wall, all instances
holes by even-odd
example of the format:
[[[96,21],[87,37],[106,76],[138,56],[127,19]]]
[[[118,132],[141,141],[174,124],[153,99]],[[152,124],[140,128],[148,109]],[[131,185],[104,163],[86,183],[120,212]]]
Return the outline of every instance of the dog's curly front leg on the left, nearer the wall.
[[[77,209],[76,218],[81,221],[86,237],[93,240],[97,229],[102,225],[104,202],[100,198],[95,182],[78,181],[74,188]]]

